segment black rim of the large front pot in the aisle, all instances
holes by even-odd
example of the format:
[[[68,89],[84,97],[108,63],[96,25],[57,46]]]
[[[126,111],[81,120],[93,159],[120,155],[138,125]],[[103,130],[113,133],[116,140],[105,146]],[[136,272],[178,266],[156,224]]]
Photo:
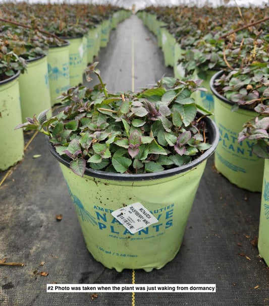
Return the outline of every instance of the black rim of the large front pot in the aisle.
[[[219,143],[219,130],[216,124],[213,122],[212,119],[209,117],[204,117],[202,120],[205,121],[208,136],[209,136],[209,143],[211,147],[207,149],[203,154],[201,154],[198,158],[194,159],[193,161],[189,162],[186,165],[175,167],[172,169],[167,169],[162,172],[154,172],[154,173],[143,173],[143,174],[126,174],[126,173],[112,173],[112,172],[105,172],[99,170],[93,170],[86,168],[85,175],[93,176],[97,178],[107,179],[107,180],[117,180],[117,181],[144,181],[144,180],[153,180],[153,179],[160,179],[169,176],[173,176],[179,173],[186,172],[197,167],[200,163],[210,157],[214,150],[216,149]],[[51,142],[48,140],[48,147],[50,152],[53,156],[55,156],[59,162],[70,168],[70,161],[63,158],[56,152],[56,149],[52,146]]]

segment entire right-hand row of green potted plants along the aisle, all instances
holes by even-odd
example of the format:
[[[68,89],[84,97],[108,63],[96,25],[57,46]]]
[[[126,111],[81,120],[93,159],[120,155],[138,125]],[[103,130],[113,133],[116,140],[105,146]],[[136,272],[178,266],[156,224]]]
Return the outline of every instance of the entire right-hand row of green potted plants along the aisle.
[[[203,79],[202,86],[210,90],[196,95],[195,100],[214,112],[220,131],[220,143],[215,154],[216,168],[237,186],[263,192],[259,252],[268,264],[269,239],[266,230],[269,206],[265,201],[269,198],[266,198],[267,180],[262,178],[263,158],[266,165],[269,151],[266,118],[269,103],[268,7],[248,10],[222,8],[222,14],[218,14],[219,9],[209,8],[201,9],[202,12],[197,8],[167,10],[164,11],[167,15],[176,10],[179,10],[178,16],[187,15],[188,24],[185,18],[173,17],[171,20],[172,14],[166,26],[174,39],[170,42],[175,50],[174,72],[180,78],[196,75]],[[211,10],[211,14],[206,18],[203,16],[201,22],[197,17],[201,18],[204,10]],[[156,11],[158,9],[153,10],[154,13]],[[158,18],[152,14],[152,8],[147,12],[140,13],[143,20],[144,16],[147,19],[148,16],[149,19]],[[163,39],[162,43],[166,52],[167,41]],[[168,64],[172,66],[171,63],[172,60]],[[243,126],[245,128],[240,133]],[[265,169],[264,175],[266,172]]]

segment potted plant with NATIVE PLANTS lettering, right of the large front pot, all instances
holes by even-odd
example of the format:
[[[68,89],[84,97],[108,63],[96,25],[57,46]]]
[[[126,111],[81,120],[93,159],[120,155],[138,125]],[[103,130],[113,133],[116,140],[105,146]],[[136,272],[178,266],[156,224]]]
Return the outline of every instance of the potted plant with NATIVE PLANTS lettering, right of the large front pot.
[[[251,60],[243,68],[217,73],[210,81],[220,129],[216,168],[238,187],[258,192],[262,189],[264,160],[252,154],[253,140],[237,144],[235,139],[243,124],[255,116],[253,108],[268,100],[268,57],[266,53],[263,55],[264,62]]]

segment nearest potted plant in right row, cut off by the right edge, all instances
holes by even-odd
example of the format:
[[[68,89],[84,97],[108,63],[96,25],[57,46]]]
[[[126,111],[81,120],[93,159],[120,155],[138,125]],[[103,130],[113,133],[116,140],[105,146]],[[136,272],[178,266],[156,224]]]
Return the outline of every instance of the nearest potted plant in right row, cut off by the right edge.
[[[269,84],[267,85],[269,86]],[[269,97],[269,87],[264,90],[263,97]],[[255,118],[248,120],[243,131],[239,133],[238,141],[246,139],[255,141],[253,153],[264,158],[264,172],[262,181],[258,250],[261,258],[269,266],[269,100],[263,99],[254,110],[258,113]]]

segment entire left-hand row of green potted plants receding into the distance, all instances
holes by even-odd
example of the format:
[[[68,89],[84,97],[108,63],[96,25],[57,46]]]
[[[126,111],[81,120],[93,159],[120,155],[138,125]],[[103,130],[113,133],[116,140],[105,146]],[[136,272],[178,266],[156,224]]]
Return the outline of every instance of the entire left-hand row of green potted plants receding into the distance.
[[[82,83],[85,67],[108,42],[112,21],[116,27],[129,12],[112,6],[26,3],[0,9],[0,85],[5,96],[0,111],[1,127],[7,131],[1,136],[0,169],[5,170],[23,158],[23,134],[13,131],[14,126],[59,103],[62,92]]]

